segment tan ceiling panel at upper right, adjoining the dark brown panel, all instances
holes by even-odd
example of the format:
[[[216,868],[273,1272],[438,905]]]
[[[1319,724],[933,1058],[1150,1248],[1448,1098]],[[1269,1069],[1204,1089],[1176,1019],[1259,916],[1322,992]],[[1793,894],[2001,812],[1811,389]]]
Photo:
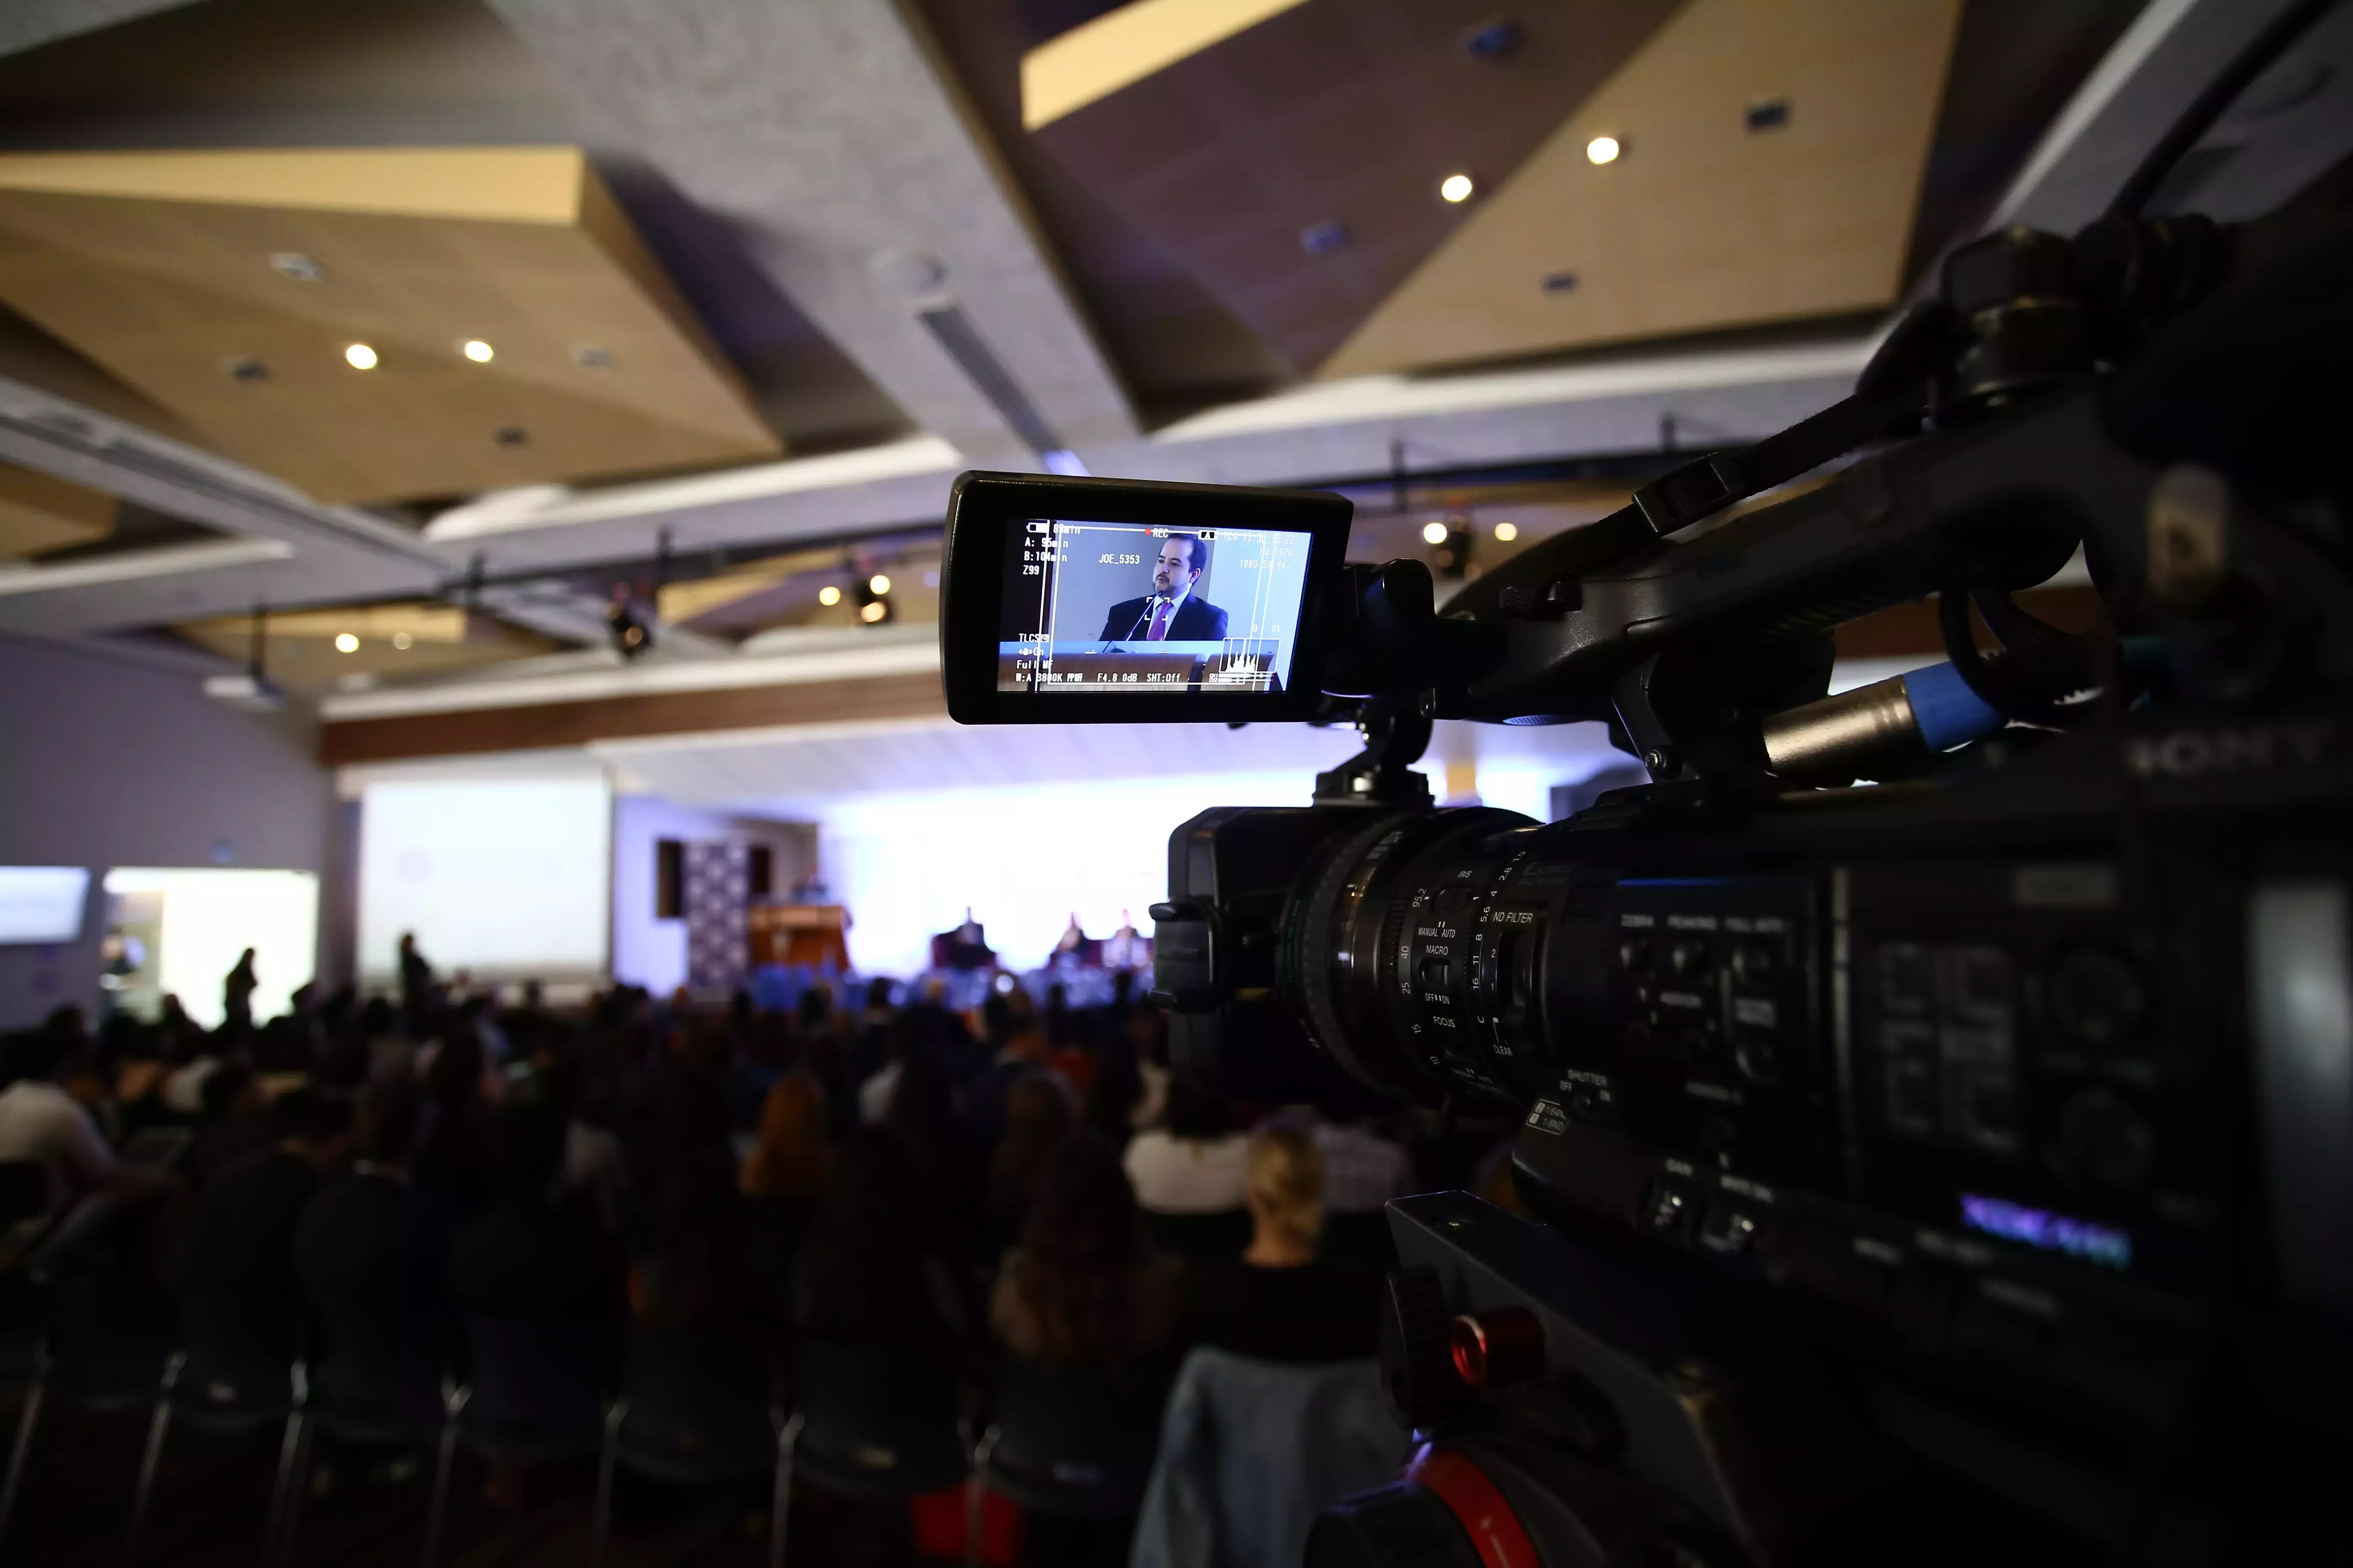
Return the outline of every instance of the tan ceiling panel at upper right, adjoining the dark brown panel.
[[[1692,0],[1322,374],[1892,303],[1958,19],[1960,0]],[[1751,129],[1758,103],[1786,125]],[[1621,158],[1593,165],[1593,136]]]

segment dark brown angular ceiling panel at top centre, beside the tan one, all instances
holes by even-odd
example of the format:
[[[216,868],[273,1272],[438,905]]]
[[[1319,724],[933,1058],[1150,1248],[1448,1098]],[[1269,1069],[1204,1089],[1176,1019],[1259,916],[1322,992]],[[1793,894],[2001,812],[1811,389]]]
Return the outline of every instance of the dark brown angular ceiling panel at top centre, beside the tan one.
[[[1518,52],[1489,61],[1464,47],[1489,0],[1306,0],[1033,139],[1304,369],[1461,226],[1447,174],[1520,167],[1675,2],[1520,5]],[[1348,240],[1308,254],[1320,223]]]

